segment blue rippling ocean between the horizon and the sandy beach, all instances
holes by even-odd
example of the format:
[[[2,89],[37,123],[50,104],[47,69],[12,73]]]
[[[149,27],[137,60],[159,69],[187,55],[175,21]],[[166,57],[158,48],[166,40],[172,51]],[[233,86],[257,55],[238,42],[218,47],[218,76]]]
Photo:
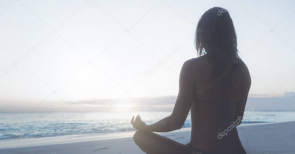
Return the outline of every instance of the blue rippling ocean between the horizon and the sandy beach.
[[[135,130],[130,119],[135,112],[0,112],[0,140],[40,138]],[[147,124],[169,116],[171,112],[140,112]],[[295,111],[253,111],[242,125],[294,121]],[[183,128],[191,127],[190,114]]]

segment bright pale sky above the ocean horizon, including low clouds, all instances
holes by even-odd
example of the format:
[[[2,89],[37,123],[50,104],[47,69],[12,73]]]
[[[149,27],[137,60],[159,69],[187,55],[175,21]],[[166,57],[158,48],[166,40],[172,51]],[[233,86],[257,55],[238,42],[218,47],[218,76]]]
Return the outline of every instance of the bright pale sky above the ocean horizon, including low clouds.
[[[234,22],[252,78],[248,104],[259,104],[260,110],[295,108],[293,0],[0,4],[2,112],[92,111],[112,103],[122,109],[140,102],[170,110],[183,62],[197,57],[196,24],[214,6],[226,7]],[[158,103],[148,103],[150,98]]]

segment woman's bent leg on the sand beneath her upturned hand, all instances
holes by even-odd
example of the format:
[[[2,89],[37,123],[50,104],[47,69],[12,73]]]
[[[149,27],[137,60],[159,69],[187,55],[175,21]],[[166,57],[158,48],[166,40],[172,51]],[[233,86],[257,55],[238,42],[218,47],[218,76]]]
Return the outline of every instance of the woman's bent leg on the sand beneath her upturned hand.
[[[189,153],[184,144],[153,132],[137,130],[133,136],[137,146],[147,154],[186,154]]]

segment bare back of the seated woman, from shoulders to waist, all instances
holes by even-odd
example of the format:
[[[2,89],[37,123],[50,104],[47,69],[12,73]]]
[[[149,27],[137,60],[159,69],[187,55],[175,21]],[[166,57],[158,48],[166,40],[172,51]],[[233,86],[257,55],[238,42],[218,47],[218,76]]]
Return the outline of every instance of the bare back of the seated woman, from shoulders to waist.
[[[240,147],[235,128],[238,124],[233,122],[241,114],[240,110],[236,112],[237,108],[243,110],[245,107],[246,100],[242,96],[244,93],[248,95],[247,88],[250,87],[247,66],[240,59],[216,64],[209,55],[191,61],[194,61],[191,70],[196,71],[191,106],[191,145],[209,151],[231,151]],[[219,73],[212,72],[217,69]],[[227,85],[223,86],[224,83]]]

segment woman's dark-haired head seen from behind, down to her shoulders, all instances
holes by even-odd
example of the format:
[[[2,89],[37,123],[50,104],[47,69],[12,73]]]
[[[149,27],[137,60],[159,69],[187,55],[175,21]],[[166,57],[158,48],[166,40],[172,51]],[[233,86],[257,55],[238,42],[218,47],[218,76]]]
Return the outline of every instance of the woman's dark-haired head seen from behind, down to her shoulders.
[[[200,56],[221,52],[239,58],[237,34],[226,9],[213,7],[201,16],[196,29],[195,46]]]

